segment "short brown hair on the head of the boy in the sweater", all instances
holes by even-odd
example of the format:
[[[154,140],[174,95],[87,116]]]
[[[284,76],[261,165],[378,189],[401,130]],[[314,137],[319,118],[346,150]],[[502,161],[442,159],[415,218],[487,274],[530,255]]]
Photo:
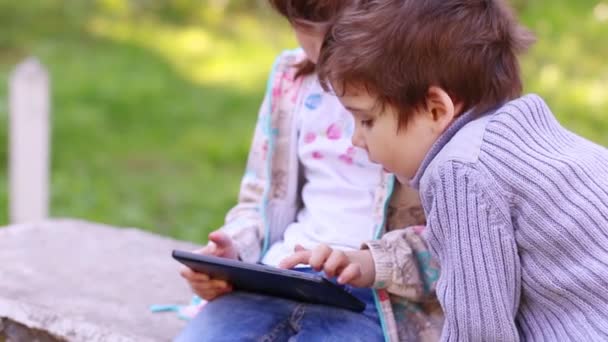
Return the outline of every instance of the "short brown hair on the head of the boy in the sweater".
[[[369,0],[334,23],[317,70],[342,90],[363,86],[406,125],[439,86],[483,113],[521,95],[518,54],[534,42],[502,0]]]

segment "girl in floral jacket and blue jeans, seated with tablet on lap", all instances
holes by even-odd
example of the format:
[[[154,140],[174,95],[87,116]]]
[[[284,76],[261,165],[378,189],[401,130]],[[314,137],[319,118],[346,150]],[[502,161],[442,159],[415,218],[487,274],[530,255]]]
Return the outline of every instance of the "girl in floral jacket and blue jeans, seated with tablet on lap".
[[[350,114],[323,92],[314,72],[332,19],[349,2],[270,1],[303,51],[284,52],[275,62],[239,203],[200,253],[278,266],[299,245],[353,251],[387,226],[424,223],[417,194],[394,188],[392,176],[351,145]],[[432,340],[437,306],[410,302],[429,298],[436,278],[419,232],[401,229],[365,245],[375,264],[353,275],[371,277],[378,290],[351,289],[367,304],[363,313],[232,292],[230,284],[185,268],[182,276],[209,302],[177,340]]]

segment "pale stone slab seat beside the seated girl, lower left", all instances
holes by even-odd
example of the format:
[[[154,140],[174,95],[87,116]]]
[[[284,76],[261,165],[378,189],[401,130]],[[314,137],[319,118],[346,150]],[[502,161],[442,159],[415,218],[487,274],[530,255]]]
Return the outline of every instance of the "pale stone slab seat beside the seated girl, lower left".
[[[171,340],[184,322],[148,308],[189,301],[171,250],[193,248],[76,220],[0,228],[0,340]]]

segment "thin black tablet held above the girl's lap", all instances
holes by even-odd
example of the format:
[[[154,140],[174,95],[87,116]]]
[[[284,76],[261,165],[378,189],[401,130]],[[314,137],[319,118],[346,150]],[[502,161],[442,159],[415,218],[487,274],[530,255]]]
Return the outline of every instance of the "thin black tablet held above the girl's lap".
[[[173,258],[194,271],[229,282],[235,290],[357,312],[365,310],[365,303],[343,287],[317,274],[178,250],[173,251]]]

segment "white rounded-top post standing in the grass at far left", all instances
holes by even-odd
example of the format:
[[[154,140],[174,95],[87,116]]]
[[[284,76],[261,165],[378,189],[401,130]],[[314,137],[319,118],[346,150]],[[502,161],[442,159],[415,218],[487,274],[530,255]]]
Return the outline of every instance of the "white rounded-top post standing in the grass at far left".
[[[49,79],[34,58],[17,66],[9,85],[10,219],[12,223],[48,216]]]

